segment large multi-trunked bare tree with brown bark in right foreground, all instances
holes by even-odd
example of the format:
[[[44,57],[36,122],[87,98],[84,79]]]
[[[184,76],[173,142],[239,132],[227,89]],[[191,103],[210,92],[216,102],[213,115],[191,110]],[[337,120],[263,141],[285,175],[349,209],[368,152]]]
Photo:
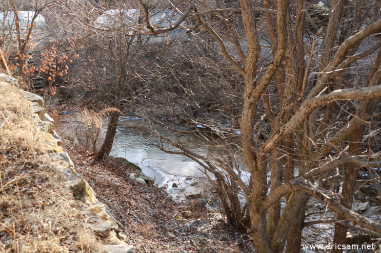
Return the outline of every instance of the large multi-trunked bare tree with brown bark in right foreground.
[[[211,13],[224,12],[227,10],[213,10],[205,3],[197,3],[199,6],[207,7]],[[252,7],[252,3],[249,1],[240,1],[240,11],[245,27],[246,39],[248,44],[247,53],[233,55],[228,52],[224,40],[230,40],[236,49],[236,52],[245,52],[238,43],[234,42],[234,37],[237,36],[234,33],[226,36],[222,32],[218,33],[211,26],[207,24],[207,20],[203,19],[205,12],[199,13],[198,5],[192,2],[190,8],[194,12],[196,18],[196,27],[203,28],[205,31],[211,34],[215,41],[219,44],[220,53],[226,57],[226,59],[236,68],[236,70],[243,75],[245,79],[245,91],[244,91],[244,104],[242,108],[242,120],[240,122],[240,129],[242,130],[242,148],[245,156],[245,162],[248,170],[251,174],[251,183],[246,185],[242,180],[239,180],[239,175],[236,171],[228,171],[228,174],[236,179],[240,189],[243,190],[248,201],[248,210],[251,217],[251,231],[253,233],[253,240],[259,252],[281,252],[283,251],[286,241],[288,241],[287,251],[297,252],[300,250],[300,232],[302,230],[303,217],[305,212],[305,206],[309,198],[312,196],[319,201],[322,201],[328,208],[334,212],[339,213],[340,217],[350,219],[359,226],[365,226],[376,233],[378,232],[378,225],[367,218],[359,218],[359,215],[353,213],[348,209],[348,204],[338,205],[334,201],[333,196],[329,196],[324,193],[323,189],[312,186],[309,180],[311,173],[319,171],[322,164],[319,162],[322,158],[333,150],[338,149],[339,152],[346,152],[345,147],[341,148],[340,142],[346,140],[352,133],[357,132],[359,129],[353,127],[351,122],[347,127],[340,129],[337,132],[330,132],[331,136],[326,135],[324,141],[316,142],[316,134],[318,133],[316,127],[316,118],[313,116],[313,112],[316,112],[317,108],[320,108],[327,104],[332,104],[339,101],[349,100],[364,100],[372,101],[380,96],[380,86],[377,75],[372,77],[372,85],[364,87],[352,87],[346,85],[345,88],[332,90],[331,83],[334,81],[338,73],[343,72],[345,67],[355,60],[346,59],[346,57],[354,54],[356,48],[360,42],[379,30],[381,21],[379,17],[375,19],[371,24],[367,25],[362,30],[350,29],[350,32],[346,35],[343,34],[340,38],[335,38],[337,33],[337,20],[340,20],[341,12],[334,12],[328,22],[327,31],[324,31],[324,47],[323,47],[323,60],[317,65],[321,66],[321,71],[318,73],[316,83],[308,81],[310,75],[309,67],[304,64],[303,51],[303,22],[304,22],[304,2],[298,2],[296,6],[290,6],[287,1],[279,1],[276,4],[276,20],[271,19],[271,16],[267,18],[267,21],[271,21],[272,24],[268,24],[269,30],[276,30],[276,41],[273,39],[274,55],[271,62],[267,65],[263,72],[258,73],[256,66],[260,56],[260,43],[258,41],[258,34],[255,28],[255,18]],[[266,4],[266,3],[264,3]],[[340,4],[340,3],[337,3]],[[336,5],[337,5],[336,4]],[[332,6],[332,10],[335,7]],[[267,3],[267,6],[269,4]],[[275,8],[275,6],[273,6]],[[295,8],[295,9],[293,9]],[[337,8],[340,10],[340,8]],[[358,6],[354,10],[358,10]],[[274,13],[274,9],[259,9],[266,13]],[[297,19],[295,25],[291,22],[292,10],[297,13]],[[233,10],[228,10],[233,11]],[[366,19],[361,13],[358,14],[359,19]],[[360,22],[354,20],[355,24]],[[360,26],[360,25],[359,25]],[[154,30],[147,24],[147,28],[151,34],[158,33],[160,30]],[[321,29],[319,33],[322,32]],[[271,34],[271,31],[269,31]],[[315,39],[318,38],[318,34],[315,35]],[[322,35],[323,36],[323,35]],[[339,47],[335,52],[331,50],[333,43],[339,43]],[[310,57],[315,58],[315,42],[310,45]],[[369,50],[359,52],[353,57],[353,59],[361,59],[362,57],[375,52],[379,47],[375,44]],[[296,50],[298,49],[298,50]],[[236,58],[239,57],[239,60]],[[316,58],[315,58],[316,60]],[[278,83],[279,93],[278,101],[279,111],[275,113],[272,110],[270,101],[265,97],[264,91],[269,86],[272,78],[280,70],[281,64],[284,64],[284,72],[280,71],[279,77],[276,81]],[[379,72],[379,65],[377,61],[374,63],[373,69],[375,72]],[[257,122],[258,105],[260,104],[260,98],[262,97],[264,107],[267,109],[265,117],[270,122],[271,133],[268,136],[268,140],[263,144],[257,146],[255,126]],[[367,102],[374,104],[371,108],[376,108],[378,100],[375,102]],[[363,104],[363,103],[362,103]],[[330,108],[330,107],[328,107]],[[369,108],[369,104],[368,104]],[[360,113],[358,111],[358,113]],[[328,123],[332,121],[332,113],[327,112]],[[364,118],[364,116],[354,117],[351,121],[367,121],[370,118]],[[329,125],[331,126],[331,125]],[[328,127],[330,128],[330,127]],[[363,135],[357,132],[362,139]],[[328,137],[329,136],[329,137]],[[325,140],[327,139],[327,140]],[[296,142],[294,141],[296,140]],[[320,139],[321,140],[321,139]],[[170,140],[167,140],[170,142]],[[351,140],[351,143],[358,143],[358,141]],[[344,144],[344,143],[343,143]],[[173,143],[174,146],[181,148],[182,146]],[[350,147],[352,147],[350,145]],[[350,148],[351,151],[348,155],[357,155],[358,153],[352,151],[358,148]],[[183,149],[184,150],[184,149]],[[295,154],[296,151],[296,154]],[[189,152],[188,152],[189,154]],[[271,154],[271,155],[270,155]],[[299,157],[299,177],[294,178],[294,164],[292,163],[293,156]],[[270,194],[268,194],[270,183],[267,181],[268,160],[269,158],[279,161],[279,157],[284,157],[280,166],[275,163],[271,166],[272,179]],[[351,156],[351,157],[352,157]],[[368,157],[372,157],[375,164],[378,164],[377,155],[372,155],[372,152],[368,154]],[[328,157],[327,157],[328,158]],[[330,163],[338,163],[342,160],[343,156],[339,156],[333,159]],[[372,160],[373,161],[373,160]],[[362,166],[366,166],[367,162],[362,160],[359,162]],[[357,168],[358,164],[356,164]],[[213,167],[211,165],[210,167]],[[337,168],[335,166],[331,169]],[[225,168],[224,168],[225,169]],[[282,183],[282,171],[286,179],[285,183]],[[353,176],[356,175],[350,167],[345,170],[345,178],[350,177],[353,181]],[[317,175],[318,173],[312,173]],[[351,176],[350,176],[351,175]],[[307,181],[306,181],[307,180]],[[313,179],[319,182],[319,179]],[[344,179],[349,182],[348,179]],[[351,185],[351,183],[349,183]],[[313,190],[312,190],[313,189]],[[353,193],[351,190],[343,190],[343,198],[352,198]],[[315,192],[315,193],[314,193]],[[282,196],[287,196],[286,209],[281,213],[279,208],[274,209],[269,214],[269,219],[266,216],[269,208],[276,204],[279,206],[279,200]],[[343,202],[344,203],[344,202]],[[355,219],[360,219],[354,221]],[[343,225],[344,223],[340,223]],[[290,230],[290,227],[292,229]],[[291,236],[292,235],[292,236]]]

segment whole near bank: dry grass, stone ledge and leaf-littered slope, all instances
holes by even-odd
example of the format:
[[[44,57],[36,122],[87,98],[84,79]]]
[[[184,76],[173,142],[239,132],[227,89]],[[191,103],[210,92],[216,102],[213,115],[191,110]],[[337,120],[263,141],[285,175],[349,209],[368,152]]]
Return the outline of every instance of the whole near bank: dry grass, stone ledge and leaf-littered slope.
[[[254,251],[220,214],[131,180],[142,175],[121,160],[69,157],[38,96],[5,81],[0,94],[1,252]]]

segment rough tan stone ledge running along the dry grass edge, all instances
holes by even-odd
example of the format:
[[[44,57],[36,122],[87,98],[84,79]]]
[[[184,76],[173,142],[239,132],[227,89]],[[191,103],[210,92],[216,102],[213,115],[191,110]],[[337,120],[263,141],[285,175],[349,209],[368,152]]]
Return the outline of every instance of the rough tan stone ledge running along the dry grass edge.
[[[0,74],[0,80],[8,83],[17,82],[4,74]],[[17,85],[17,83],[15,83]],[[61,147],[62,141],[54,132],[54,120],[48,115],[44,106],[44,100],[35,94],[22,91],[27,100],[30,101],[30,108],[36,125],[39,142],[42,148],[49,154],[51,166],[56,171],[61,172],[67,179],[67,187],[71,189],[74,197],[84,203],[83,215],[85,226],[93,230],[103,242],[103,252],[110,253],[133,253],[134,247],[127,245],[123,238],[126,237],[121,231],[117,221],[107,212],[107,207],[99,202],[93,189],[88,182],[75,171],[74,164],[67,152]],[[143,180],[143,179],[142,179]],[[143,180],[143,182],[145,182]]]

